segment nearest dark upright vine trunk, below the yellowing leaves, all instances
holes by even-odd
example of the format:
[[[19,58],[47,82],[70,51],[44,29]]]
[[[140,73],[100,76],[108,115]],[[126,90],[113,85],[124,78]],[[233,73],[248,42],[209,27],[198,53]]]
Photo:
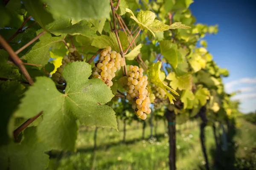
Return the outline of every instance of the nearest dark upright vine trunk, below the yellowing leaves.
[[[167,109],[165,116],[168,121],[169,134],[169,169],[176,170],[176,115],[174,111]]]

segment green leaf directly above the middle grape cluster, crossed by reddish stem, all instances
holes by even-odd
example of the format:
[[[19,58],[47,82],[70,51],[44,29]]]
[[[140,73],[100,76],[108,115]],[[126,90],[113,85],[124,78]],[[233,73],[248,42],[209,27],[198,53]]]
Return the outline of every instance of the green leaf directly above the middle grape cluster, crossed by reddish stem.
[[[119,35],[120,35],[121,45],[123,47],[123,50],[125,50],[128,47],[128,37],[125,35],[125,33],[123,33],[123,31],[119,31]],[[121,52],[116,39],[116,35],[113,32],[110,32],[109,36],[101,35],[101,36],[95,37],[93,39],[92,45],[97,48],[106,48],[107,46],[111,46],[112,51],[116,51],[117,53]],[[125,48],[125,46],[127,47]]]

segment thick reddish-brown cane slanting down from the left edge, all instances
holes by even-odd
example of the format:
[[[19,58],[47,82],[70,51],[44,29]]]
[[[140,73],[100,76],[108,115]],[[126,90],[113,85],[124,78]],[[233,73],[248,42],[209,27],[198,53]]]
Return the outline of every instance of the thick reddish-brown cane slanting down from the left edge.
[[[2,44],[3,48],[6,49],[6,51],[10,54],[13,62],[20,68],[20,71],[23,73],[24,77],[27,79],[30,85],[33,85],[34,82],[32,78],[29,76],[28,71],[26,70],[25,66],[23,65],[23,62],[21,59],[15,54],[12,47],[6,42],[6,40],[0,35],[0,43]]]

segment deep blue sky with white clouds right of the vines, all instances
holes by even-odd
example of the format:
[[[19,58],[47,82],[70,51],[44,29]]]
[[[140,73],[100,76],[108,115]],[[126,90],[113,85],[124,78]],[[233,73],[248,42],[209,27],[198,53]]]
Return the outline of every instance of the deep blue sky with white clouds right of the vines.
[[[197,23],[219,26],[218,34],[204,39],[215,62],[230,71],[226,91],[241,91],[233,97],[241,101],[240,111],[256,111],[256,1],[194,1],[190,9]]]

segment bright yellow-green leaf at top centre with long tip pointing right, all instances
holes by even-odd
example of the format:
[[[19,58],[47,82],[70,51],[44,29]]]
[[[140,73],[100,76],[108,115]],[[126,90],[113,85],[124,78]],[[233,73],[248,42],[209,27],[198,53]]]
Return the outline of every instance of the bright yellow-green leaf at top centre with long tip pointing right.
[[[169,29],[177,29],[177,28],[180,28],[180,29],[191,28],[189,26],[185,26],[180,22],[173,23],[172,25],[168,26],[162,23],[160,20],[155,20],[156,14],[152,11],[140,11],[137,17],[135,17],[131,9],[126,8],[125,11],[131,15],[130,16],[131,19],[133,19],[140,26],[140,28],[147,29],[153,34],[154,37],[155,37],[154,32],[167,31]]]

